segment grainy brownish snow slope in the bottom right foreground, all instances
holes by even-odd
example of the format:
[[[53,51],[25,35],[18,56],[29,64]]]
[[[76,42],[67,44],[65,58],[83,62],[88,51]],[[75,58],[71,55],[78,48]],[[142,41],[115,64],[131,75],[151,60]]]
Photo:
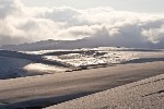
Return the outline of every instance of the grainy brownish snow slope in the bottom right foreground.
[[[46,109],[164,109],[164,74]]]

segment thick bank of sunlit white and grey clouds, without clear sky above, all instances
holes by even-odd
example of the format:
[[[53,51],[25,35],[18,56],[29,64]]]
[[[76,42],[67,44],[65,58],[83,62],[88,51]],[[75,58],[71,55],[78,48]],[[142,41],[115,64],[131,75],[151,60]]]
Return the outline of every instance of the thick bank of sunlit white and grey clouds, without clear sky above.
[[[164,48],[164,15],[108,7],[28,8],[19,0],[0,0],[0,45],[104,36],[112,46]]]

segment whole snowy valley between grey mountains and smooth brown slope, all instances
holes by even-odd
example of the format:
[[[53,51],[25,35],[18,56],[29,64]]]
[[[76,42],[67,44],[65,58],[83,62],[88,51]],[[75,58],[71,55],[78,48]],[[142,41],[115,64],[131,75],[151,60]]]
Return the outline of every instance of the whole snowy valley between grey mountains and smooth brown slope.
[[[0,50],[0,78],[107,66],[142,58],[160,58],[157,61],[163,61],[164,51],[116,47],[19,52]]]

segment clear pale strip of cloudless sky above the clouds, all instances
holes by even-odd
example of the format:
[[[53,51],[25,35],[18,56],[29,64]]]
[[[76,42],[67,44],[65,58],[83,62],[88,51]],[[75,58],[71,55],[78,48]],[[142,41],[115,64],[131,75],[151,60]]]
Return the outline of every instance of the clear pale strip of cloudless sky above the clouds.
[[[87,9],[96,7],[112,7],[119,11],[164,12],[164,0],[22,0],[28,7],[71,7]]]

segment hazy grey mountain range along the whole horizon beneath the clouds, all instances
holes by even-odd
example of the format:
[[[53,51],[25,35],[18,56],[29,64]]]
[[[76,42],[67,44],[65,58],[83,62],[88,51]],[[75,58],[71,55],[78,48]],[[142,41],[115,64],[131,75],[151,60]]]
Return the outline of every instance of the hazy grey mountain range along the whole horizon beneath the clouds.
[[[77,40],[40,40],[31,44],[19,44],[19,45],[3,45],[0,49],[13,50],[13,51],[36,51],[36,50],[55,50],[55,49],[80,49],[80,48],[97,48],[97,47],[126,47],[126,48],[150,48],[161,49],[163,45],[152,44],[149,41],[142,44],[136,44],[133,41],[127,41],[125,39],[115,40],[106,35],[86,37]]]

